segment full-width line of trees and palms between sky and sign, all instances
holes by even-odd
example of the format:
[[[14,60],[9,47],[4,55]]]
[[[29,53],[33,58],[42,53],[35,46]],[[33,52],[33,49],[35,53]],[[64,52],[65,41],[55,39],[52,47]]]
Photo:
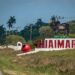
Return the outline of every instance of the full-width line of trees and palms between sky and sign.
[[[32,42],[38,39],[44,39],[46,37],[53,38],[54,36],[64,36],[64,35],[68,38],[74,38],[75,20],[61,23],[59,20],[60,18],[61,18],[60,16],[52,16],[50,23],[45,23],[42,21],[42,19],[37,19],[37,21],[34,24],[25,25],[25,27],[22,30],[18,31],[18,27],[15,28],[14,26],[16,23],[15,16],[10,16],[10,18],[7,20],[7,26],[9,30],[7,30],[7,28],[5,28],[4,25],[0,25],[0,44],[5,45],[5,42],[7,40],[6,37],[8,37],[9,35],[22,36],[26,41],[32,40]],[[61,24],[65,25],[66,27],[65,31],[56,30],[57,25]]]

